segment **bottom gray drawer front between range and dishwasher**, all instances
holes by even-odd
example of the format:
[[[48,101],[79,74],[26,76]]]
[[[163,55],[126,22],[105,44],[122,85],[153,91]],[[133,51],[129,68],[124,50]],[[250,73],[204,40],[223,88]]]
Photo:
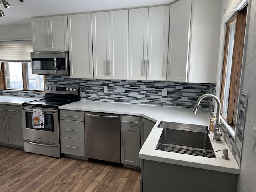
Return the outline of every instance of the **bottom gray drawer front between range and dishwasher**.
[[[60,137],[60,148],[64,154],[85,156],[83,139]]]

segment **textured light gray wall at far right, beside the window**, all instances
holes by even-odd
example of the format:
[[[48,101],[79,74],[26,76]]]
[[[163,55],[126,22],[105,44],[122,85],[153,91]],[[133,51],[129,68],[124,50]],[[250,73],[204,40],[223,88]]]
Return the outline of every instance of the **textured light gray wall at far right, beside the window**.
[[[251,6],[242,84],[242,92],[249,96],[242,147],[241,174],[238,178],[238,192],[256,191],[256,154],[252,151],[253,127],[256,127],[256,0],[249,1],[251,1]]]

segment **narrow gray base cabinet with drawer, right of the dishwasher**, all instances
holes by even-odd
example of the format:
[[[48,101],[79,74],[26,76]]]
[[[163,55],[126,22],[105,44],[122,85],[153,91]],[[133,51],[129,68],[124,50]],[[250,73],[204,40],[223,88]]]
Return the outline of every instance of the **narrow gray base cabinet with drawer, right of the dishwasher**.
[[[140,166],[140,117],[122,115],[121,163]]]

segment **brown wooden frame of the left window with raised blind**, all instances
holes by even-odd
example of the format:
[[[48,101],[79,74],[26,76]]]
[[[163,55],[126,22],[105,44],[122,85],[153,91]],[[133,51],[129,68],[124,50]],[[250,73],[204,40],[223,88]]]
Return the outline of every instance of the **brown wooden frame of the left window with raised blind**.
[[[28,89],[28,84],[27,84],[27,72],[26,72],[26,63],[27,62],[21,62],[22,65],[22,80],[23,80],[23,90],[20,91],[34,91],[34,92],[44,92],[44,90],[30,90]],[[6,85],[6,76],[5,76],[5,65],[4,62],[1,62],[1,71],[0,71],[0,87],[1,90],[15,90],[15,89],[8,89]],[[46,84],[46,78],[44,75],[44,85]]]

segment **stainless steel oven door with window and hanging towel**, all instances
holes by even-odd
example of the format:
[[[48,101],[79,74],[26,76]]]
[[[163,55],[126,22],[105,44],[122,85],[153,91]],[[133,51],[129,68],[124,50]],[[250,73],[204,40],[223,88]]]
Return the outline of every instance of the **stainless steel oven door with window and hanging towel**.
[[[44,112],[44,128],[33,127],[33,109]],[[22,106],[22,128],[24,140],[60,144],[58,109]]]

